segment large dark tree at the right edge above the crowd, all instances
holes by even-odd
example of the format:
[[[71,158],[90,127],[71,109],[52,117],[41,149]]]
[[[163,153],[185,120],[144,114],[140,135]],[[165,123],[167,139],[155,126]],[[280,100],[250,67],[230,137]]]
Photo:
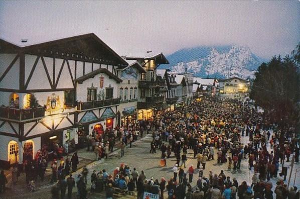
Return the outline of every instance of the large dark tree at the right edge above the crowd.
[[[250,96],[265,113],[281,126],[298,122],[300,99],[300,74],[288,55],[282,60],[274,56],[262,63],[252,83]]]

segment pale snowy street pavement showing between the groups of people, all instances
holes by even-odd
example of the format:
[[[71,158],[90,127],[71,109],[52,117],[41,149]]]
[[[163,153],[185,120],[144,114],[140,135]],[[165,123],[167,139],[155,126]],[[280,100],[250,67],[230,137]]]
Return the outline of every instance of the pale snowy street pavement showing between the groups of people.
[[[157,150],[157,153],[149,153],[150,150],[150,143],[152,141],[152,134],[147,134],[145,137],[141,138],[138,141],[135,141],[132,144],[132,148],[129,148],[129,145],[125,148],[125,153],[123,157],[120,157],[120,150],[117,149],[113,153],[111,153],[108,157],[108,159],[102,159],[98,161],[93,161],[92,163],[87,165],[87,168],[89,169],[88,174],[88,184],[87,188],[90,188],[90,176],[93,170],[99,171],[102,169],[106,169],[108,173],[112,173],[112,171],[115,169],[115,167],[120,166],[121,163],[124,163],[128,166],[130,166],[131,169],[133,167],[136,167],[137,171],[140,173],[141,170],[144,171],[146,178],[154,177],[154,179],[161,179],[161,177],[165,177],[166,180],[169,180],[171,177],[173,177],[173,171],[172,168],[174,164],[176,163],[176,158],[174,157],[174,153],[172,153],[171,157],[167,159],[167,166],[160,166],[160,160],[161,160],[161,151]],[[249,137],[241,137],[241,142],[243,144],[249,143]],[[269,145],[268,145],[269,147]],[[204,170],[204,176],[209,176],[209,171],[212,171],[214,173],[219,174],[221,170],[224,170],[224,173],[226,176],[230,176],[231,178],[235,177],[239,184],[242,181],[246,181],[247,184],[251,184],[251,177],[253,175],[253,168],[250,171],[248,169],[248,160],[243,159],[241,162],[241,168],[237,170],[229,170],[228,164],[217,164],[217,158],[216,158],[216,152],[215,151],[215,160],[207,161],[206,163],[206,169]],[[93,154],[93,152],[87,152],[89,156]],[[230,153],[228,155],[231,155]],[[186,169],[189,168],[190,165],[194,165],[194,168],[197,167],[197,160],[193,156],[193,150],[188,150],[187,154],[188,160],[186,162]],[[291,162],[285,163],[285,166],[288,167],[288,175],[289,175],[289,166]],[[295,169],[299,171],[299,165],[294,165],[293,173],[291,175],[290,185],[293,185],[294,180],[294,173]],[[281,166],[280,166],[281,169]],[[79,169],[75,173],[73,173],[73,176],[76,178],[78,174],[80,174],[82,169]],[[279,172],[278,172],[279,173]],[[273,189],[275,187],[275,183],[278,179],[282,179],[283,177],[272,178],[270,181],[273,183]],[[192,186],[196,186],[196,181],[198,179],[198,174],[194,174]],[[286,177],[288,180],[288,176]],[[285,183],[287,183],[287,180]],[[299,187],[300,180],[297,177],[295,180],[295,185]],[[8,197],[6,195],[0,195],[0,198],[18,198],[20,197],[20,194],[23,196],[23,198],[51,198],[50,189],[52,184],[46,184],[41,186],[36,192],[33,193],[19,193],[19,195],[9,194]],[[73,189],[74,196],[76,195],[77,188],[75,187]],[[104,198],[103,194],[102,196],[99,194],[89,194],[88,198]]]

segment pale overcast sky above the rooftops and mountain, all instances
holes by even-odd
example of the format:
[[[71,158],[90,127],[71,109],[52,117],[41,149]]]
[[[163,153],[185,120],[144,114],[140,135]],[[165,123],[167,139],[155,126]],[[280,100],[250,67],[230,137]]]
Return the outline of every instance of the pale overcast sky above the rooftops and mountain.
[[[21,45],[95,33],[120,55],[246,45],[270,58],[300,41],[300,1],[1,1],[0,37]]]

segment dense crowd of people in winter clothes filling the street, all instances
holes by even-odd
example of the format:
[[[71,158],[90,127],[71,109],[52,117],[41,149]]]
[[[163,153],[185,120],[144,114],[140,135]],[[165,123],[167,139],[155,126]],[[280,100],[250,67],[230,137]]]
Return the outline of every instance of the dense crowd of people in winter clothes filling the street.
[[[51,163],[51,182],[58,179],[58,183],[52,188],[53,198],[58,198],[59,190],[61,198],[64,198],[66,187],[68,198],[71,198],[75,184],[78,187],[78,197],[86,198],[89,174],[91,192],[105,190],[107,198],[112,198],[113,187],[136,190],[138,199],[142,198],[144,192],[159,194],[162,199],[164,193],[170,199],[229,199],[236,196],[269,199],[273,198],[273,192],[278,199],[299,198],[297,187],[288,188],[283,180],[277,181],[276,186],[270,182],[270,178],[277,177],[279,164],[290,161],[291,155],[294,155],[294,161],[298,162],[299,140],[295,127],[278,126],[270,117],[258,113],[251,104],[241,103],[237,99],[203,97],[200,102],[195,101],[176,110],[158,114],[153,121],[140,121],[106,131],[97,142],[93,132],[86,137],[87,150],[95,152],[96,160],[107,158],[115,143],[120,141],[118,147],[122,156],[126,145],[131,148],[132,142],[137,140],[138,136],[142,137],[144,132],[149,133],[151,129],[154,131],[149,152],[161,152],[164,163],[162,166],[169,164],[170,157],[177,160],[172,168],[171,179],[166,180],[162,177],[159,180],[151,176],[146,178],[143,171],[139,173],[136,168],[130,169],[129,166],[121,164],[111,174],[106,170],[94,170],[91,173],[84,167],[75,183],[75,179],[70,175],[71,170],[75,171],[78,164],[77,153],[74,153],[71,159],[60,159],[59,166],[56,159]],[[241,136],[249,137],[249,143],[241,143]],[[188,150],[193,152],[197,160],[195,167],[190,165],[186,168]],[[238,182],[234,177],[226,176],[223,170],[220,173],[210,171],[208,176],[204,176],[207,161],[227,164],[228,169],[236,170],[240,169],[243,159],[247,159],[249,170],[254,171],[251,184],[247,184],[246,181]],[[37,168],[43,165],[43,162],[43,156],[37,158]],[[280,176],[286,175],[283,171],[279,173]],[[193,187],[192,183],[196,186]]]

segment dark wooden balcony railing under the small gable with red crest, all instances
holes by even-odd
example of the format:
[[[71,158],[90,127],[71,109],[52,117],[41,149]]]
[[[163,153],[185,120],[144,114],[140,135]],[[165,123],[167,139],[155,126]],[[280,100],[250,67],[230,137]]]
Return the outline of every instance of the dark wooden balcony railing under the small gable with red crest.
[[[107,106],[118,105],[118,104],[120,104],[120,98],[81,102],[78,104],[77,110],[82,111],[87,109],[95,109],[95,108],[107,107]]]

